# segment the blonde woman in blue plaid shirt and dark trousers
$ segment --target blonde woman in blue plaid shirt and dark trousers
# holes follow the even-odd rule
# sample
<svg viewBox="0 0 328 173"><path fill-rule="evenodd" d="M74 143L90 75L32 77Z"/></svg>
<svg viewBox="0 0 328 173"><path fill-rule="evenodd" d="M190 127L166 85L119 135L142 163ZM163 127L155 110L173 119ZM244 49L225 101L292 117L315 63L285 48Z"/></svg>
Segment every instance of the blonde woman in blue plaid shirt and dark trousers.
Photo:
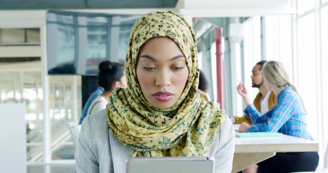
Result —
<svg viewBox="0 0 328 173"><path fill-rule="evenodd" d="M273 131L285 135L313 140L305 123L306 111L295 86L289 80L281 62L269 61L262 68L264 85L277 94L277 105L261 115L247 95L244 84L237 86L246 105L244 112L253 125L240 125L241 132ZM276 156L258 163L258 172L315 171L319 162L318 152L277 153Z"/></svg>

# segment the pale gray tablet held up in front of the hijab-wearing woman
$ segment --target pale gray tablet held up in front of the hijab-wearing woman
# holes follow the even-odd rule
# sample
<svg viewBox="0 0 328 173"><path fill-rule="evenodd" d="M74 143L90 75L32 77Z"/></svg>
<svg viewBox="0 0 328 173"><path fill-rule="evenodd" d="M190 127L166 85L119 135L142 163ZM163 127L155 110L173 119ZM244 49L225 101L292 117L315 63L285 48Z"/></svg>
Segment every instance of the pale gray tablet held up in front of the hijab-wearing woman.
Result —
<svg viewBox="0 0 328 173"><path fill-rule="evenodd" d="M213 157L151 157L126 160L126 173L213 173Z"/></svg>

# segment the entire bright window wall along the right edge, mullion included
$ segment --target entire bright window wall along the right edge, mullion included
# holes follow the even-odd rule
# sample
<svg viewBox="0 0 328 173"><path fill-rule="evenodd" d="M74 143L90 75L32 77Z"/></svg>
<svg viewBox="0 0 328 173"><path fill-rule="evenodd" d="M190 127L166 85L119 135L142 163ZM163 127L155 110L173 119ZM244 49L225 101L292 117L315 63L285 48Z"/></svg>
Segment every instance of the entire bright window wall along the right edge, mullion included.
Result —
<svg viewBox="0 0 328 173"><path fill-rule="evenodd" d="M297 16L297 66L298 89L307 111L306 123L313 138L320 143L319 167L328 142L327 110L328 92L328 7L327 0L321 0L320 6L314 4L320 0L298 0ZM326 6L326 7L325 7ZM321 19L321 21L317 20ZM319 32L321 30L321 32Z"/></svg>

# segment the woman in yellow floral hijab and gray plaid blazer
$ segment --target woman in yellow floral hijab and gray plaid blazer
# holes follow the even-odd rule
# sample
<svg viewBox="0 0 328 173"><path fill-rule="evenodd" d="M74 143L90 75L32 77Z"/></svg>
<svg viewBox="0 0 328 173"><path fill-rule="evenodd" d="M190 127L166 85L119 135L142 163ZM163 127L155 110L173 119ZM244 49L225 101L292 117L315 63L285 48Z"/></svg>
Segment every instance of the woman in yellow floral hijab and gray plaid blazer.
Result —
<svg viewBox="0 0 328 173"><path fill-rule="evenodd" d="M215 172L231 172L234 128L224 110L197 93L196 38L170 11L141 17L125 61L127 88L82 123L74 172L125 172L130 157L209 156Z"/></svg>

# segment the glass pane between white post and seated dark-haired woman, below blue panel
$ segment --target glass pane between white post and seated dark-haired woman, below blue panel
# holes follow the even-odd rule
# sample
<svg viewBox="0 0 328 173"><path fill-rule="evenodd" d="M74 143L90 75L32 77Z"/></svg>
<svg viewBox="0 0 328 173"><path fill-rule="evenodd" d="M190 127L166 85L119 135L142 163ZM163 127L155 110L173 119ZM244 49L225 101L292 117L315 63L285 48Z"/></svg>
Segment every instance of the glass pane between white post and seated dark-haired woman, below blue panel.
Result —
<svg viewBox="0 0 328 173"><path fill-rule="evenodd" d="M74 146L67 123L78 122L81 117L81 76L49 76L49 86L52 160L74 159Z"/></svg>

